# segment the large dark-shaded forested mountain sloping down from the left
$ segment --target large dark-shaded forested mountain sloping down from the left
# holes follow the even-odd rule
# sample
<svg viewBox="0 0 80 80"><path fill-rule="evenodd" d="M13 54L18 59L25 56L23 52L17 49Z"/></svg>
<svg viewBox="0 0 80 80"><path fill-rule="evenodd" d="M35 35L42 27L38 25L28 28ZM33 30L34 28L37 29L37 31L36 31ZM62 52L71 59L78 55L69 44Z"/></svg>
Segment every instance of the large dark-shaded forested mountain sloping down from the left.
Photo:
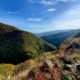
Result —
<svg viewBox="0 0 80 80"><path fill-rule="evenodd" d="M16 64L55 49L30 32L0 23L0 62Z"/></svg>

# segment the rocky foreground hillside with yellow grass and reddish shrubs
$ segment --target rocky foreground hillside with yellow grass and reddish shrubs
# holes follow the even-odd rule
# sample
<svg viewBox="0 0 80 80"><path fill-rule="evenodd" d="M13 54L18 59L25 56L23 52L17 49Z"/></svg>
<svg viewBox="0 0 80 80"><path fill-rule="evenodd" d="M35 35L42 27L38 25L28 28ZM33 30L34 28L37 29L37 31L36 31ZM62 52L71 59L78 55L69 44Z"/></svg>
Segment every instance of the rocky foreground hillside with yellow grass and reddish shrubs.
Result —
<svg viewBox="0 0 80 80"><path fill-rule="evenodd" d="M46 64L47 61L51 61L52 64ZM59 54L55 55L54 52L48 52L38 58L27 60L18 65L1 64L0 76L3 80L28 80L28 76L31 76L32 73L32 76L35 78L32 80L48 80L48 77L44 78L46 75L51 76L50 80L56 80L56 78L57 80L79 80L80 71L74 67L79 61L79 54L63 57ZM52 65L53 68L51 68ZM80 64L78 63L78 65ZM57 70L58 72L56 72Z"/></svg>

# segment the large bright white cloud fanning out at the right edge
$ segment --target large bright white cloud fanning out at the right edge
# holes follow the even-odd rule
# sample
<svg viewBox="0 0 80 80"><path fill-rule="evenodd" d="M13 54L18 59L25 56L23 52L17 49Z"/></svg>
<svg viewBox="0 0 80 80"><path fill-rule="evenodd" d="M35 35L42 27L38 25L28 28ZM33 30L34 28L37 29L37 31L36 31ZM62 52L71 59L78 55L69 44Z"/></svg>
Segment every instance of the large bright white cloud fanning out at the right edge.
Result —
<svg viewBox="0 0 80 80"><path fill-rule="evenodd" d="M80 28L80 6L73 7L49 24L57 29Z"/></svg>

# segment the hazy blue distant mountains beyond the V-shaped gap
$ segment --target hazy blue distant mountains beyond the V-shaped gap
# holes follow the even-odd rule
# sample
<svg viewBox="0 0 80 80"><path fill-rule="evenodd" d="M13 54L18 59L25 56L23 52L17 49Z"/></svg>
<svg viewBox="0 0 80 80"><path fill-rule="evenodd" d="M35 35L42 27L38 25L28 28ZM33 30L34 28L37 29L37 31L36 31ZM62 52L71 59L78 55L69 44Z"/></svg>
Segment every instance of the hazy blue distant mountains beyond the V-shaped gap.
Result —
<svg viewBox="0 0 80 80"><path fill-rule="evenodd" d="M80 29L79 30L77 30L77 29L76 30L67 30L67 31L59 32L59 33L53 34L53 35L41 36L41 38L44 39L45 41L47 41L48 43L55 45L57 48L59 48L60 44L64 40L66 40L68 38L72 38L73 36L76 36L76 34L78 32L80 32Z"/></svg>

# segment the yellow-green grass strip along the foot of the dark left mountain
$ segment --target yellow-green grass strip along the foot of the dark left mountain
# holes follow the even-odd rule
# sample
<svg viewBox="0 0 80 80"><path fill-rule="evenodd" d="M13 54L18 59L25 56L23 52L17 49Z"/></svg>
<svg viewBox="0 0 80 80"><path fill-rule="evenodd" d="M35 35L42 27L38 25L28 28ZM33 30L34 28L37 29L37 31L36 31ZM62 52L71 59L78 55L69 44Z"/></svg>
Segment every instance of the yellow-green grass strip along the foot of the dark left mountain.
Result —
<svg viewBox="0 0 80 80"><path fill-rule="evenodd" d="M21 77L26 76L30 70L40 66L44 60L51 59L52 57L54 57L52 52L47 52L37 58L26 60L21 64L17 64L17 65L4 64L4 63L0 64L0 79L4 78L3 80L5 80L5 78L8 77L9 75L12 75L12 77L14 78L20 77L21 79Z"/></svg>

